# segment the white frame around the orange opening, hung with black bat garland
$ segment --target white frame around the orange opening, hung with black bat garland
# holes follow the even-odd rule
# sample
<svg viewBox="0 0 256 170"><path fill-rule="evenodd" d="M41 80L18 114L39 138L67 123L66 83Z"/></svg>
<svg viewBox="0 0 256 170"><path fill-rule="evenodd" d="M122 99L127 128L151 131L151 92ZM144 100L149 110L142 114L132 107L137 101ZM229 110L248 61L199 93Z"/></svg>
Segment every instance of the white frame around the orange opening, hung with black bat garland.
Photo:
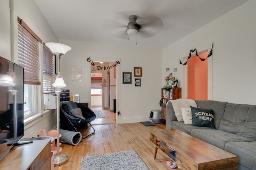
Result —
<svg viewBox="0 0 256 170"><path fill-rule="evenodd" d="M200 51L198 54L201 53L205 53L208 52L208 54L210 53L211 49L207 49L204 51ZM195 53L193 53L192 56L194 56ZM186 57L180 57L180 59L182 60L182 63L185 63L188 59L188 56ZM208 87L207 87L207 96L208 96L208 100L212 100L212 64L213 64L213 55L207 58L208 60ZM183 99L188 99L188 66L186 65L182 65L182 98Z"/></svg>

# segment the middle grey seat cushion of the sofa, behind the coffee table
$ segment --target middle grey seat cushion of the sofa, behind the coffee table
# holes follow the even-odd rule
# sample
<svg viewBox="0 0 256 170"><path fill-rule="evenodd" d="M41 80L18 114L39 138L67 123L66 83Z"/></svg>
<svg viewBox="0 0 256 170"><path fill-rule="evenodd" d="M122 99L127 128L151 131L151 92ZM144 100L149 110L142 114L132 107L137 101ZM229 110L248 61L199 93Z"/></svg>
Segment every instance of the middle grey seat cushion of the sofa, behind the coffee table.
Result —
<svg viewBox="0 0 256 170"><path fill-rule="evenodd" d="M228 142L250 142L254 141L240 135L216 130L216 129L193 129L191 135L202 141L210 143L220 149L224 149Z"/></svg>

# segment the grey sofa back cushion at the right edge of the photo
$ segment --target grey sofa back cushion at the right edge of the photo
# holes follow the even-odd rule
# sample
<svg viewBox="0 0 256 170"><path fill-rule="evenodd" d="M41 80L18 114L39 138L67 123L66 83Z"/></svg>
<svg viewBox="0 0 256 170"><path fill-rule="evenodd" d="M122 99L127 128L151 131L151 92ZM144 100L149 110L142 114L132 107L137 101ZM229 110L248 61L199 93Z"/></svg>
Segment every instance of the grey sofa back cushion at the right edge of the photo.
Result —
<svg viewBox="0 0 256 170"><path fill-rule="evenodd" d="M227 104L220 130L256 140L256 105Z"/></svg>

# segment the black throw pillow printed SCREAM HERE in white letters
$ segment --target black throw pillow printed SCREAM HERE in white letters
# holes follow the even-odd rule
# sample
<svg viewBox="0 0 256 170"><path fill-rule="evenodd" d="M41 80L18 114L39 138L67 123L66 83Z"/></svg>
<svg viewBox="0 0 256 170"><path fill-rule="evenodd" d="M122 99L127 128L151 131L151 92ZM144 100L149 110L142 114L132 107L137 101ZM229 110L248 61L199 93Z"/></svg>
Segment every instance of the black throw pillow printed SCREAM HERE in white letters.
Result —
<svg viewBox="0 0 256 170"><path fill-rule="evenodd" d="M192 107L192 126L210 127L214 129L214 115L212 109Z"/></svg>

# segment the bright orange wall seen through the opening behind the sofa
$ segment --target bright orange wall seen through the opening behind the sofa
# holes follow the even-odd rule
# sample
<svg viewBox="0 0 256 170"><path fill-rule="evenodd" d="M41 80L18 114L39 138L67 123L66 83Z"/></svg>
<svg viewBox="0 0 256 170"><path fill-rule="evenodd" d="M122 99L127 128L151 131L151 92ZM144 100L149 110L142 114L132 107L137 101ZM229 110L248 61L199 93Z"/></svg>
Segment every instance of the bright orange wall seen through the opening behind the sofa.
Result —
<svg viewBox="0 0 256 170"><path fill-rule="evenodd" d="M207 52L199 55L203 59L207 56ZM202 62L199 57L188 60L188 99L207 100L208 60Z"/></svg>

